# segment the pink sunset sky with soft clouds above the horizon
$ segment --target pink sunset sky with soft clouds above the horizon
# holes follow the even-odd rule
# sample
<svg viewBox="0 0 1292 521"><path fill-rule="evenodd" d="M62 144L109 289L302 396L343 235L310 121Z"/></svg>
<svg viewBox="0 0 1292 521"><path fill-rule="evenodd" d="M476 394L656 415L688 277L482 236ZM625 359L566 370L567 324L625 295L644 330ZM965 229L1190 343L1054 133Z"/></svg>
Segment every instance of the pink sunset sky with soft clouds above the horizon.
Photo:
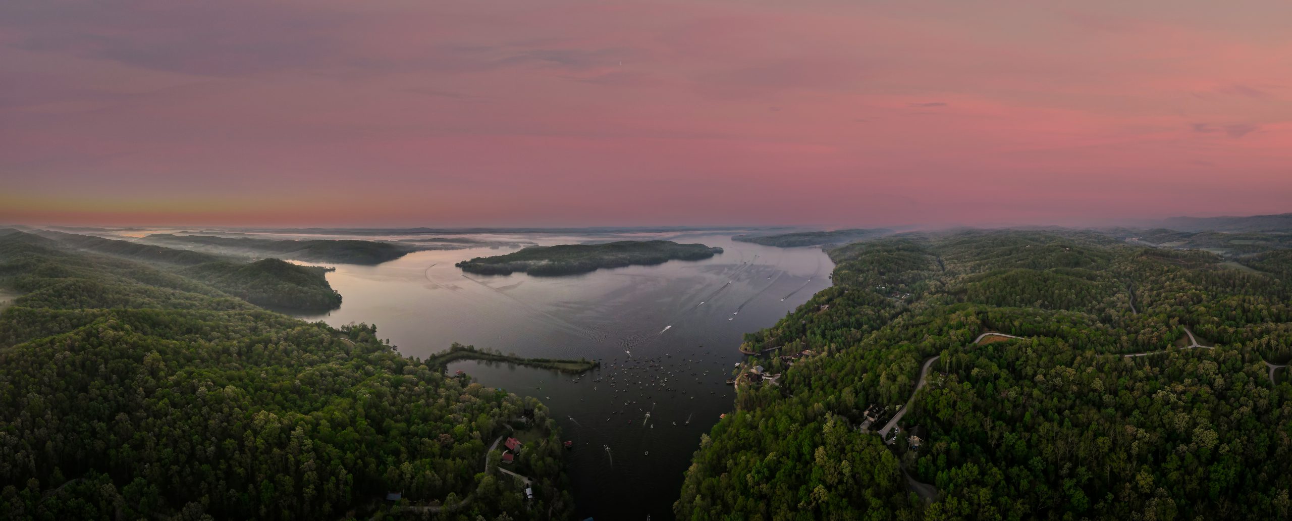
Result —
<svg viewBox="0 0 1292 521"><path fill-rule="evenodd" d="M1289 19L1286 0L12 1L0 222L1288 212Z"/></svg>

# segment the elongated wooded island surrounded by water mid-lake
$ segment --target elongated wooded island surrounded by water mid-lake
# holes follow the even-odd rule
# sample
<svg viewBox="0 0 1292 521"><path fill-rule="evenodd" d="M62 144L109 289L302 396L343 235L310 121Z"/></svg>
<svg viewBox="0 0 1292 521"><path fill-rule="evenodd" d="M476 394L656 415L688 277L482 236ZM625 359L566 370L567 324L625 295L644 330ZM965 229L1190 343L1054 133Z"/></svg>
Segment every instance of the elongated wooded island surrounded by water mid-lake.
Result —
<svg viewBox="0 0 1292 521"><path fill-rule="evenodd" d="M704 244L678 244L672 240L619 240L602 244L531 246L494 257L457 262L463 271L508 275L571 275L602 268L663 264L671 260L704 260L722 248Z"/></svg>

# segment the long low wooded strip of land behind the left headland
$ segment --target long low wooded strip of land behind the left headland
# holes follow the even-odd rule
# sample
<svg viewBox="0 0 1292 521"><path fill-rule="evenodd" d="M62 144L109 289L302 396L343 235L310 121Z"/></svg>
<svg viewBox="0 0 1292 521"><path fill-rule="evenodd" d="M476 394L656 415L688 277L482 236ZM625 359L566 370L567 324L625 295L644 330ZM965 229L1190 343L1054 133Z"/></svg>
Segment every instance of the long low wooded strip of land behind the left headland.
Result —
<svg viewBox="0 0 1292 521"><path fill-rule="evenodd" d="M425 246L355 239L258 239L249 237L150 234L142 239L174 248L235 256L275 256L307 262L381 264Z"/></svg>

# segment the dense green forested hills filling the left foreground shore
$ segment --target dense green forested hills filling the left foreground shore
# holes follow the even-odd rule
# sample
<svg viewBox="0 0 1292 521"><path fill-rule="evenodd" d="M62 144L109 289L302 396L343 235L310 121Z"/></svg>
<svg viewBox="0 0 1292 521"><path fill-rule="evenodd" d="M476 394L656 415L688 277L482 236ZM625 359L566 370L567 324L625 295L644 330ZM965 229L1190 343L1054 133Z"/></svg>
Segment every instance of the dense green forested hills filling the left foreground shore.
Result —
<svg viewBox="0 0 1292 521"><path fill-rule="evenodd" d="M536 399L402 357L375 326L258 308L204 282L233 275L193 252L67 239L115 253L0 230L0 288L18 295L0 312L0 517L572 512L561 438ZM264 269L260 291L289 288L266 286L292 277L284 266ZM512 436L525 443L509 468L530 484L496 472Z"/></svg>

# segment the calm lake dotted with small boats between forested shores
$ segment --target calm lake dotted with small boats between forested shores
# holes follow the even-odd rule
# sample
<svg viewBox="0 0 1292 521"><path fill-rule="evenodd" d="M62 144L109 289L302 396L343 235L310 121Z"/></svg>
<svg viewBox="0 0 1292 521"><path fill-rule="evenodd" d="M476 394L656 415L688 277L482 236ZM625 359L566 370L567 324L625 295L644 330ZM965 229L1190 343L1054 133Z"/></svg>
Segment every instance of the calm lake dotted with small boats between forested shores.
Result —
<svg viewBox="0 0 1292 521"><path fill-rule="evenodd" d="M525 357L602 359L583 377L474 361L448 370L543 399L575 443L568 462L578 518L668 520L700 434L731 410L725 380L742 359L742 335L771 326L828 287L833 265L817 248L764 247L733 242L730 234L597 239L621 238L725 251L703 261L572 277L475 275L453 266L514 248L335 265L328 281L344 297L341 308L305 318L376 323L377 336L416 357L457 341ZM505 239L559 244L589 237Z"/></svg>

